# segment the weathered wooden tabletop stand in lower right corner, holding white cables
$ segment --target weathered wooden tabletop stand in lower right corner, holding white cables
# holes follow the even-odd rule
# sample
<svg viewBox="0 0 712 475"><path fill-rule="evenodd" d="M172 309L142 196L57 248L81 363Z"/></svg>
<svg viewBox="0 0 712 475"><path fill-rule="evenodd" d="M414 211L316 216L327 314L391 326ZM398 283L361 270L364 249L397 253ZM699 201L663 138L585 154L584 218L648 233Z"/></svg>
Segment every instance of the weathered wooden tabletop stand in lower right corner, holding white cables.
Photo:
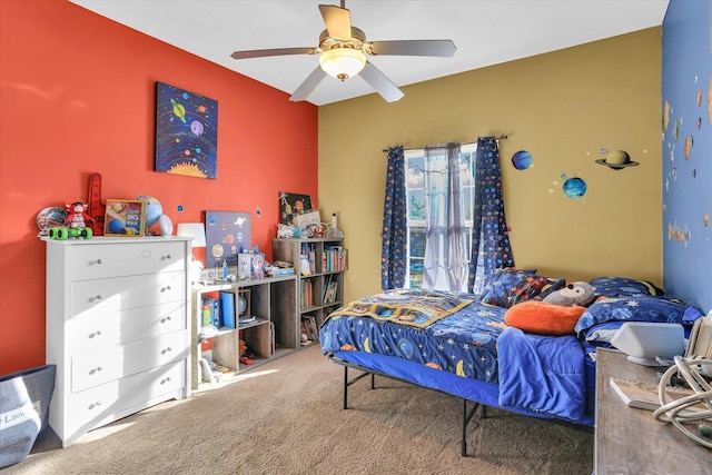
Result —
<svg viewBox="0 0 712 475"><path fill-rule="evenodd" d="M656 368L613 349L596 354L595 474L709 474L712 451L653 419L651 410L627 407L609 383L616 377L656 384Z"/></svg>

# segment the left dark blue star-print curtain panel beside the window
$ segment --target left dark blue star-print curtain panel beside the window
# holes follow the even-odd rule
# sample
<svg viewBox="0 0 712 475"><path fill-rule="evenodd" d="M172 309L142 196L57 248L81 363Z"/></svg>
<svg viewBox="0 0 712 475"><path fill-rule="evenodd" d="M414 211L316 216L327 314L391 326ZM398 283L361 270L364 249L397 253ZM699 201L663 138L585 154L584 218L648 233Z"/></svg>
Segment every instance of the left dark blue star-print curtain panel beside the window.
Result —
<svg viewBox="0 0 712 475"><path fill-rule="evenodd" d="M403 146L388 149L386 198L383 209L380 287L387 290L402 288L405 284L407 206Z"/></svg>

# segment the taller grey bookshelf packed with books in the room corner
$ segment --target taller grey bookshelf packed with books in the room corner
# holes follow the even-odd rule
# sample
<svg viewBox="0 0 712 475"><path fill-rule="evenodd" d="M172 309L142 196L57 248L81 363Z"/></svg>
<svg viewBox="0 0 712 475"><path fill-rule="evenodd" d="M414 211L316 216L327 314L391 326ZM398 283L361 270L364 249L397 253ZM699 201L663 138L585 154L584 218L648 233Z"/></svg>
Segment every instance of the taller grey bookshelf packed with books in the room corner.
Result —
<svg viewBox="0 0 712 475"><path fill-rule="evenodd" d="M306 333L303 346L318 340L318 328L324 319L344 301L344 271L346 249L344 239L275 239L273 255L276 260L291 263L296 275L297 315L299 335ZM309 275L301 273L301 265ZM304 323L304 325L303 325Z"/></svg>

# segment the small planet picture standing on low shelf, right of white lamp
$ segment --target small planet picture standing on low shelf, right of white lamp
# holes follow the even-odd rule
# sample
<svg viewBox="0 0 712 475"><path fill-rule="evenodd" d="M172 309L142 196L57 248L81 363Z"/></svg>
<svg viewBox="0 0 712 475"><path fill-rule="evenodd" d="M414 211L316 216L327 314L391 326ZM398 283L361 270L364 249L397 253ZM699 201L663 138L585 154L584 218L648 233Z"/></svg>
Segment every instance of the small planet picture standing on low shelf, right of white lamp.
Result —
<svg viewBox="0 0 712 475"><path fill-rule="evenodd" d="M250 215L241 211L205 211L205 265L237 266L237 255L250 249Z"/></svg>

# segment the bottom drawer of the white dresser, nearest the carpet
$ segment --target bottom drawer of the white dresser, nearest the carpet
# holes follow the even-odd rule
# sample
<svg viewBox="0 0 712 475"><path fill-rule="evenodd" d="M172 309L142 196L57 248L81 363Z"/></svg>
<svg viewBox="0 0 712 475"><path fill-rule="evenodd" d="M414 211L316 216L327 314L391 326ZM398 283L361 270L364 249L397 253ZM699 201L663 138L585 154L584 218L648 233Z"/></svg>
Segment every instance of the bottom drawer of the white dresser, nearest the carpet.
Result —
<svg viewBox="0 0 712 475"><path fill-rule="evenodd" d="M116 414L146 400L155 399L186 386L186 360L152 368L120 380L113 380L66 399L71 414L66 432L97 427L116 419Z"/></svg>

